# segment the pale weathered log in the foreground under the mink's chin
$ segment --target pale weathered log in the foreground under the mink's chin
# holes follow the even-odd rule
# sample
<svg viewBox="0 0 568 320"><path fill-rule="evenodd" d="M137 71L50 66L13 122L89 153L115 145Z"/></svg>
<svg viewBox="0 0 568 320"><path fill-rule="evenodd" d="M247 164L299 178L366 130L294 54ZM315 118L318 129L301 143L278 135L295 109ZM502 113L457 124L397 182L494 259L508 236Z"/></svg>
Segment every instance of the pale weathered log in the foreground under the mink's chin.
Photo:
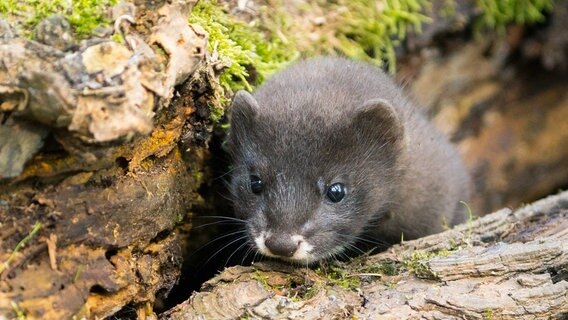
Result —
<svg viewBox="0 0 568 320"><path fill-rule="evenodd" d="M232 267L162 319L562 319L568 192L340 266Z"/></svg>

